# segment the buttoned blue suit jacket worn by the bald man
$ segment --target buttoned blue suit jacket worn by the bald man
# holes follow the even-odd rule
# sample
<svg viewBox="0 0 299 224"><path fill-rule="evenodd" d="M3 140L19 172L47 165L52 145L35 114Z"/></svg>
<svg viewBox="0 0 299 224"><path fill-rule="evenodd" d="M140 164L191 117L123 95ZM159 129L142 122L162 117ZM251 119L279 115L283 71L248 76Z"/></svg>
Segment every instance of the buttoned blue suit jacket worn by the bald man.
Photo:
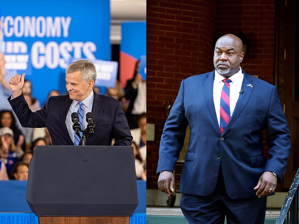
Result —
<svg viewBox="0 0 299 224"><path fill-rule="evenodd" d="M285 173L290 134L277 89L242 72L243 93L223 134L213 102L215 71L181 82L161 136L157 173L173 171L189 125L189 146L180 183L182 193L211 195L220 162L231 198L257 197L254 187L264 171L275 172L278 181ZM263 155L263 130L267 132L268 160Z"/></svg>

